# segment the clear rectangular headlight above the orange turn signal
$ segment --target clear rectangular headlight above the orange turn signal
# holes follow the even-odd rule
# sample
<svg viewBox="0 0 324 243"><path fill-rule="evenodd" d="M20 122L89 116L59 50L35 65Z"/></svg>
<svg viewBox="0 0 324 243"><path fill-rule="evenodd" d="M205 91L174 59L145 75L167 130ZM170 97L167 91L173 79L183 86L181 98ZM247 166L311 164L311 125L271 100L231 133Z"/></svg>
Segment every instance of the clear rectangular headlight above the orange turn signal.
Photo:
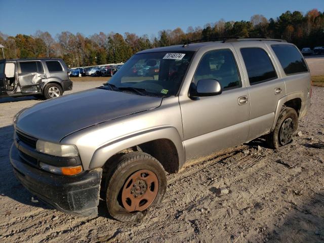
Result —
<svg viewBox="0 0 324 243"><path fill-rule="evenodd" d="M50 143L42 140L37 140L36 149L39 152L60 156L60 157L69 157L77 156L78 151L74 145L62 145L57 143Z"/></svg>

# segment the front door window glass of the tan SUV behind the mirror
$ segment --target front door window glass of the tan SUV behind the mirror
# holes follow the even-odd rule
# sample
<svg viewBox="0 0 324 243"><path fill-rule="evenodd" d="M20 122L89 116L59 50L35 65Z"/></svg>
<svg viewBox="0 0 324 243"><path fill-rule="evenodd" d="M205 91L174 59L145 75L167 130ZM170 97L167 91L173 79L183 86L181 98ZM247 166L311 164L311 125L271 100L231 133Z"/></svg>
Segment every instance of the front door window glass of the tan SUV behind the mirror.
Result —
<svg viewBox="0 0 324 243"><path fill-rule="evenodd" d="M241 87L232 52L226 49L206 53L199 62L193 83L196 85L200 79L216 79L223 90Z"/></svg>

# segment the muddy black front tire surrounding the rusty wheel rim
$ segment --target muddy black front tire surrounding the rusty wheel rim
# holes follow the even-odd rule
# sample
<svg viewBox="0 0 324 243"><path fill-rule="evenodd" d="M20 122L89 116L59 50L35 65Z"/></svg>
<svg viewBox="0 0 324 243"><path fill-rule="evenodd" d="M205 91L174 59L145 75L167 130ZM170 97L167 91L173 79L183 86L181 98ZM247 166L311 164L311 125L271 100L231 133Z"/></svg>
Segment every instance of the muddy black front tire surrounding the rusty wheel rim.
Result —
<svg viewBox="0 0 324 243"><path fill-rule="evenodd" d="M129 212L123 206L121 193L131 175L140 170L149 170L156 175L158 180L157 195L147 209ZM151 155L144 152L127 153L119 158L118 164L112 172L106 187L106 205L111 217L122 222L138 222L146 215L149 208L158 205L163 199L167 189L166 173L159 161Z"/></svg>

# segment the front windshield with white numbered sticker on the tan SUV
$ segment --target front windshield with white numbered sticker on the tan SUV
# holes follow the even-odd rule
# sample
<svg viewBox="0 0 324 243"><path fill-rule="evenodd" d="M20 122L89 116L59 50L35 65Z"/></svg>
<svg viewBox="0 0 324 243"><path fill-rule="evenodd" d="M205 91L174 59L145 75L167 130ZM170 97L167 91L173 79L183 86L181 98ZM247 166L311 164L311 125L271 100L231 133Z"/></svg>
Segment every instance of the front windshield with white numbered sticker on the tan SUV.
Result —
<svg viewBox="0 0 324 243"><path fill-rule="evenodd" d="M136 54L109 80L116 88L176 95L194 52Z"/></svg>

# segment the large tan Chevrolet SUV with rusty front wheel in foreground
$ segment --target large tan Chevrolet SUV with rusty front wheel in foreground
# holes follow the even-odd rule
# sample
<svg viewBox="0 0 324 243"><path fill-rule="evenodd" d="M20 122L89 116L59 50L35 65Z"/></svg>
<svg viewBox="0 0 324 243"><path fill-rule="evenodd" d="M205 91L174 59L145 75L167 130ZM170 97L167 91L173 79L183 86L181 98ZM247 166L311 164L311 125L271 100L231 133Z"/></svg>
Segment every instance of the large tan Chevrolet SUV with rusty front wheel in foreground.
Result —
<svg viewBox="0 0 324 243"><path fill-rule="evenodd" d="M301 53L281 40L145 50L102 87L20 111L10 161L58 210L94 215L101 197L112 217L137 221L187 161L262 135L289 145L310 96Z"/></svg>

